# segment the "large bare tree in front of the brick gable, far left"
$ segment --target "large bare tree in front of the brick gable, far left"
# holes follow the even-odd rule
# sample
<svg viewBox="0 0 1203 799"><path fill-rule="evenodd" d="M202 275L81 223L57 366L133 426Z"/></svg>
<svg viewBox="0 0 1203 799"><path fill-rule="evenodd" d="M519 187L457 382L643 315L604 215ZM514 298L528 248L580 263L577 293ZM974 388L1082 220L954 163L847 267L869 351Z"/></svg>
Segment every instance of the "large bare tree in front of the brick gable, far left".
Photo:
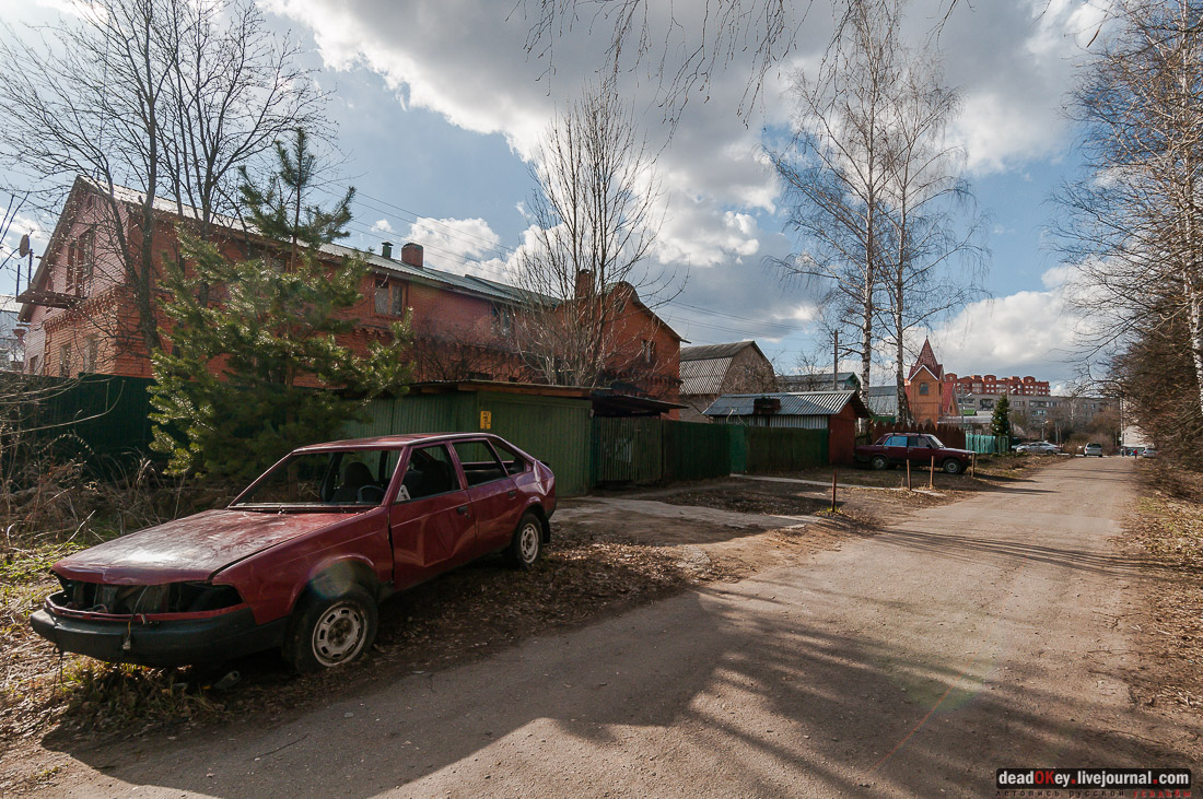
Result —
<svg viewBox="0 0 1203 799"><path fill-rule="evenodd" d="M96 252L120 264L137 314L117 335L154 351L155 197L197 207L207 226L230 197L233 168L312 121L319 97L294 66L295 47L277 44L248 0L113 0L78 11L75 22L0 41L10 111L0 157L46 186L43 210L76 177L93 183L109 220Z"/></svg>

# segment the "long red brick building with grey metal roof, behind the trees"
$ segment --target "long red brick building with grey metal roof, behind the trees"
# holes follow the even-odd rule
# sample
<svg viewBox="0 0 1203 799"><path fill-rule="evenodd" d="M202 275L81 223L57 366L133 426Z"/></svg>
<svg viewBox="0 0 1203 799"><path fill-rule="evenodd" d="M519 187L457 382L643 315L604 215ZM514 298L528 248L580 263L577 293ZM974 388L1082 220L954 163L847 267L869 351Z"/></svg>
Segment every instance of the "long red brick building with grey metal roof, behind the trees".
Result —
<svg viewBox="0 0 1203 799"><path fill-rule="evenodd" d="M118 189L117 217L112 204L90 180L76 179L51 234L46 252L28 287L18 297L18 321L24 345L24 370L30 374L76 375L103 372L150 376L150 360L137 326L136 296L126 274L120 245L135 251L144 237L135 208L137 192ZM156 198L153 251L160 254L150 275L158 288L158 264L179 257L177 225L189 225L174 202ZM115 231L122 233L118 235ZM231 258L259 257L268 242L233 220L219 220L211 240ZM321 248L318 257L331 269L352 255L369 267L362 299L348 316L355 329L340 344L366 352L372 341L391 336L390 326L410 317L415 381L531 381L531 368L511 344L515 314L529 294L514 286L432 268L417 244L405 244L399 258L385 243L379 255L338 244ZM606 364L606 377L632 390L675 401L680 386L681 336L640 300L626 284L608 290L615 305L617 345ZM170 342L170 322L155 311L160 334Z"/></svg>

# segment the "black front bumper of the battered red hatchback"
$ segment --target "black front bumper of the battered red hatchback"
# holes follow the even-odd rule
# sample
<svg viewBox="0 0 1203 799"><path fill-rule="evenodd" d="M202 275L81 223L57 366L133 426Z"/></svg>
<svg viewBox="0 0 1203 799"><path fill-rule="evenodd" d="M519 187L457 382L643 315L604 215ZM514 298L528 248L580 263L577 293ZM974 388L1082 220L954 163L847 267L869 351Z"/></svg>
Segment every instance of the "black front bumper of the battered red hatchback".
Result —
<svg viewBox="0 0 1203 799"><path fill-rule="evenodd" d="M67 652L109 663L170 667L217 664L279 646L288 619L255 624L250 608L200 619L155 621L135 616L128 621L76 619L37 610L29 624L43 638Z"/></svg>

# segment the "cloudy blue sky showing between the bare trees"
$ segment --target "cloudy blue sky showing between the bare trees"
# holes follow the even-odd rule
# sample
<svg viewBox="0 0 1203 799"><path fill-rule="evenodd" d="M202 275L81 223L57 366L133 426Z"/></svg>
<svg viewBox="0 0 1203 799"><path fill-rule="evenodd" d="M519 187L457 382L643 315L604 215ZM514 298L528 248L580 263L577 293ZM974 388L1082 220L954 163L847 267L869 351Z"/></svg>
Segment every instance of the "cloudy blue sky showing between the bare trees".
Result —
<svg viewBox="0 0 1203 799"><path fill-rule="evenodd" d="M10 23L36 22L66 5L0 0L0 14ZM529 223L522 202L532 189L527 160L538 135L602 62L605 41L589 35L592 20L565 31L549 82L545 60L528 58L522 47L526 23L521 13L510 14L511 2L267 0L262 6L274 26L291 29L312 47L319 82L333 90L330 113L339 120L342 168L361 198L349 243L379 249L385 239L416 240L432 266L503 276ZM967 177L990 216L990 298L934 324L932 342L952 371L1065 382L1081 322L1061 302L1063 270L1043 231L1055 213L1049 196L1078 167L1062 107L1101 13L1075 0L959 2L932 42L934 19L946 6L947 0L912 2L907 37L938 54L964 97L954 127ZM650 8L653 26L663 24L668 5ZM680 48L699 20L691 10L674 13L685 31L671 40ZM671 138L656 107L654 76L639 67L623 79L651 145L663 147L665 225L652 266L689 275L662 315L697 344L754 338L786 371L799 353L828 348L814 339L807 292L783 284L766 266L787 255L792 242L783 234L760 131L787 123L788 76L813 62L831 13L816 2L798 22L796 48L768 76L764 102L745 118L736 108L749 65L739 56L716 74L705 102L691 100ZM604 20L595 29L604 30ZM919 344L921 338L915 348ZM885 364L877 369L883 377L889 371Z"/></svg>

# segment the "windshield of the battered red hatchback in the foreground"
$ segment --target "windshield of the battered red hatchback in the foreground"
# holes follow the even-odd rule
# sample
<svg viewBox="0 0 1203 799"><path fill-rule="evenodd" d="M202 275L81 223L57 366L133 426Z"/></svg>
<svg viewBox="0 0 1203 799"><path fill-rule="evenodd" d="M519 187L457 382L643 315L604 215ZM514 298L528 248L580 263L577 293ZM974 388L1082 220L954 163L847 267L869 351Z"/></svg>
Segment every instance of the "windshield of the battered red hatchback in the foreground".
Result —
<svg viewBox="0 0 1203 799"><path fill-rule="evenodd" d="M399 449L326 449L294 454L239 496L235 507L380 505L399 453Z"/></svg>

